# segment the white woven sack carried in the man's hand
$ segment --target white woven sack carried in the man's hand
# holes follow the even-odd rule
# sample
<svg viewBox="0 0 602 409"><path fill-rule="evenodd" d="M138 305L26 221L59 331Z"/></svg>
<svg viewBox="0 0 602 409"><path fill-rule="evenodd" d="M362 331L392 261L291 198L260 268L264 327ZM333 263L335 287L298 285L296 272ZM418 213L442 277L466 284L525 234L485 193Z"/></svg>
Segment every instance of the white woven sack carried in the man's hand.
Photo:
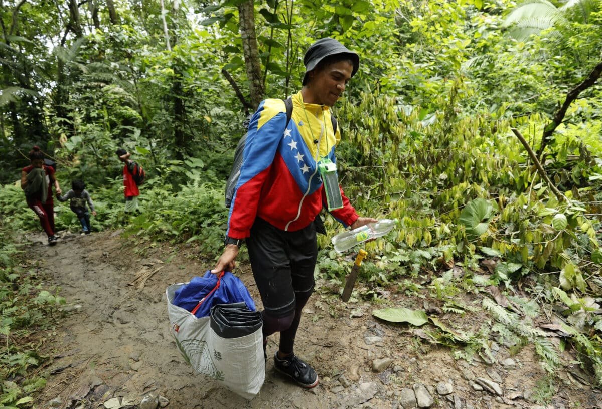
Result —
<svg viewBox="0 0 602 409"><path fill-rule="evenodd" d="M244 337L218 336L210 318L196 318L172 304L176 290L188 283L167 287L167 313L173 337L184 360L199 374L207 375L242 396L253 399L265 381L261 328Z"/></svg>

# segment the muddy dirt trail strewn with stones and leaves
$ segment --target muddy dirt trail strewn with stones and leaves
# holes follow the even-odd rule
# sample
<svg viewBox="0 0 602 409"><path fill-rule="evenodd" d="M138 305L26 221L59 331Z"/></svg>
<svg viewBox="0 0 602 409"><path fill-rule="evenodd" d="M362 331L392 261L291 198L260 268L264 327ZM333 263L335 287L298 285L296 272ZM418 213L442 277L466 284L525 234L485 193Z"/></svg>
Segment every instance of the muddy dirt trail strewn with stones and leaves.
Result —
<svg viewBox="0 0 602 409"><path fill-rule="evenodd" d="M380 306L347 306L332 294L336 288L329 291L333 284L323 282L304 310L296 343L297 354L320 375L320 386L303 390L283 380L268 359L261 393L246 401L194 374L170 334L166 286L202 275L211 266L193 248L149 244L134 251L117 232L66 233L55 247L43 244L40 236L30 239L30 257L42 259L50 283L61 287L72 309L48 345L54 357L48 367L52 375L36 408L97 408L111 398L119 398L122 408L138 408L144 395L155 393L176 409L389 409L410 407L403 406L408 398L403 389L417 383L427 387L433 408L535 407L525 392L533 392L544 373L529 347L512 357L516 369L456 361L450 349L418 342L414 328L376 322L371 311ZM248 266L236 273L261 307ZM422 304L402 294L390 298L400 307ZM368 345L367 337L376 342ZM272 338L268 355L276 349ZM507 357L505 349L497 352L498 362ZM374 360L383 358L393 363L384 372L374 372ZM497 382L502 396L474 390L475 377ZM569 408L575 402L582 408L602 407L598 391L574 377L570 381L571 386L558 386L550 407ZM450 384L453 393L436 392L439 383Z"/></svg>

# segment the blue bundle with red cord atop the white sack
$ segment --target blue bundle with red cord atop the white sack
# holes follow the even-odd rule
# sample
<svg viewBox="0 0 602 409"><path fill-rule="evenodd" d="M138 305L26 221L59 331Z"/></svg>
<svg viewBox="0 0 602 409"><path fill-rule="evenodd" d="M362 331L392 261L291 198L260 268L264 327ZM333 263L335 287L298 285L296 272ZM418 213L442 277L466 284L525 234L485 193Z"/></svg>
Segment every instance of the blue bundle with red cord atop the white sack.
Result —
<svg viewBox="0 0 602 409"><path fill-rule="evenodd" d="M250 311L256 310L243 281L229 271L220 274L207 271L203 277L194 277L175 292L172 301L173 305L192 312L197 318L209 316L211 307L217 304L232 303L245 303Z"/></svg>

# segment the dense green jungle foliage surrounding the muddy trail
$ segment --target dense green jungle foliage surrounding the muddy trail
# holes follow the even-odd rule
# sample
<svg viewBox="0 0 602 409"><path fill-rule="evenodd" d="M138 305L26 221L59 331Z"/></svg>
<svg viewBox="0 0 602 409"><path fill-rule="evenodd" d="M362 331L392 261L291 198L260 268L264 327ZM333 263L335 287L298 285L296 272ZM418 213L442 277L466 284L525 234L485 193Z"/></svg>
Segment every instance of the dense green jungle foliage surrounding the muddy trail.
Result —
<svg viewBox="0 0 602 409"><path fill-rule="evenodd" d="M262 98L299 90L303 52L334 37L361 58L334 108L341 184L360 214L399 220L365 245L364 279L408 291L412 278L436 271L433 294L458 314L467 308L458 292L522 288L554 306L568 345L602 385L601 0L3 0L0 23L6 232L39 229L17 183L34 144L57 161L65 191L85 180L96 229L123 226L115 151L125 147L147 174L143 214L127 220L126 234L216 256L244 118ZM68 206L55 210L59 229L77 228ZM342 227L325 220L319 274L340 279L350 263L330 237ZM0 251L7 344L34 325L8 301L19 291L14 251ZM529 314L482 307L487 334L536 342L550 376L563 364ZM467 358L487 355L484 337L438 342ZM25 364L11 365L2 375ZM3 388L4 404L28 404L31 391Z"/></svg>

